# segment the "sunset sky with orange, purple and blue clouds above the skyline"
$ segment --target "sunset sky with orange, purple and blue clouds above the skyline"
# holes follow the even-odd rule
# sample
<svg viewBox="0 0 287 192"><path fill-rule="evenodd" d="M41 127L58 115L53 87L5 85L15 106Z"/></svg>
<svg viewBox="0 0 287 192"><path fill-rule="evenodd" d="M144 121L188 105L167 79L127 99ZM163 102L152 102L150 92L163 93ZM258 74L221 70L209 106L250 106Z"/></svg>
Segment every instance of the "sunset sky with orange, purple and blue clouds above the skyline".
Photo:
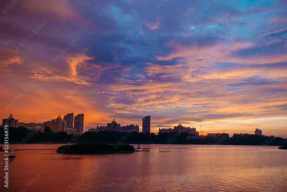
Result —
<svg viewBox="0 0 287 192"><path fill-rule="evenodd" d="M203 135L287 137L285 0L9 4L0 3L1 119L73 112L84 131L113 119L141 131L150 115L154 133L181 122L201 123Z"/></svg>

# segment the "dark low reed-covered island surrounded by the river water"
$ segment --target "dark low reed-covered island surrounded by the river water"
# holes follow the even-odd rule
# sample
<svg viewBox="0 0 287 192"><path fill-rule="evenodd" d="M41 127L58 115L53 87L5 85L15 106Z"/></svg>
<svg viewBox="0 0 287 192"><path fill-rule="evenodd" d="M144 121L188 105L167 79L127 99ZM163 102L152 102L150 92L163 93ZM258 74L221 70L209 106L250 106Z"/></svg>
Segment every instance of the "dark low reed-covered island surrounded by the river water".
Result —
<svg viewBox="0 0 287 192"><path fill-rule="evenodd" d="M116 146L116 147L115 147ZM57 149L58 153L65 154L96 154L96 153L117 153L134 152L133 145L122 144L99 144L99 143L77 143L74 145L63 145Z"/></svg>

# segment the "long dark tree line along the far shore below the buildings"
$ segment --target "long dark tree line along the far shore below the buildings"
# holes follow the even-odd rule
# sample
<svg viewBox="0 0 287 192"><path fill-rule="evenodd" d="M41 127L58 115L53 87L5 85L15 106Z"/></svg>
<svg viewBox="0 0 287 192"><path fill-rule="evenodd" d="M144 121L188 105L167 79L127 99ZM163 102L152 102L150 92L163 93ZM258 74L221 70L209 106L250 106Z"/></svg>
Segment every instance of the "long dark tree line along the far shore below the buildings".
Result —
<svg viewBox="0 0 287 192"><path fill-rule="evenodd" d="M187 132L175 133L137 133L99 131L85 132L82 135L67 134L67 132L54 133L50 127L44 128L44 133L28 130L25 127L9 127L9 143L43 143L43 142L92 142L92 143L134 143L134 144L216 144L216 145L287 145L281 137L261 136L252 134L216 134L216 136L205 136L204 138L187 139L187 136L195 136ZM0 138L4 138L4 128L0 128ZM4 143L4 139L1 139Z"/></svg>

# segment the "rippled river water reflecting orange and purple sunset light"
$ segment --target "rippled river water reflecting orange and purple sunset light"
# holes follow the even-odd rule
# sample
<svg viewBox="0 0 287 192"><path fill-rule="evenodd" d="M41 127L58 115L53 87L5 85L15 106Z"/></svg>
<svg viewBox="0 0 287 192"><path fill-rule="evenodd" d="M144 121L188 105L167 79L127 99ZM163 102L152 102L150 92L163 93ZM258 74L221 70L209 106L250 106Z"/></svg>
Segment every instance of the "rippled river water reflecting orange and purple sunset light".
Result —
<svg viewBox="0 0 287 192"><path fill-rule="evenodd" d="M134 153L66 155L55 152L61 145L14 145L37 150L15 151L8 190L0 161L0 191L287 191L287 150L276 146L151 144Z"/></svg>

